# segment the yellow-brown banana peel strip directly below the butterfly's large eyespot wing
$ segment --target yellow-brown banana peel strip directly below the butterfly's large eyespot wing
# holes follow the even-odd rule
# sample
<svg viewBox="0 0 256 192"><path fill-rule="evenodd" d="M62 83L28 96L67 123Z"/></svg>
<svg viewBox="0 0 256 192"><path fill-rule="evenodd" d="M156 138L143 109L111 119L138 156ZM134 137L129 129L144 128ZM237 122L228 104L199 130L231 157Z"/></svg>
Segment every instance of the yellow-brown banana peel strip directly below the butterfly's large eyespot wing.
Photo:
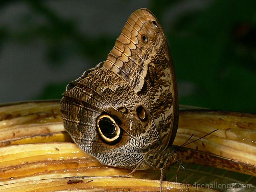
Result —
<svg viewBox="0 0 256 192"><path fill-rule="evenodd" d="M104 166L71 142L46 142L1 147L0 186L24 180L71 176L120 176L131 171ZM155 176L154 176L155 175ZM160 178L156 170L138 171L135 177ZM11 178L11 179L10 179Z"/></svg>

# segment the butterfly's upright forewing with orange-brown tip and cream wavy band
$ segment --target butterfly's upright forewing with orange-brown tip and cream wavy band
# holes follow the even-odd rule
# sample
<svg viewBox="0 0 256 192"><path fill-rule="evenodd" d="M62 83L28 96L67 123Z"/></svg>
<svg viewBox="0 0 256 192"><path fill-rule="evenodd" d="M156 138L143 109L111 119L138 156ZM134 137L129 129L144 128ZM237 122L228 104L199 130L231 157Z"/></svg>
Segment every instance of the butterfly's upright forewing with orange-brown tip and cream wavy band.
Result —
<svg viewBox="0 0 256 192"><path fill-rule="evenodd" d="M128 18L103 66L118 73L145 102L162 149L172 145L178 127L178 91L168 43L160 23L147 9ZM156 128L156 130L155 130Z"/></svg>

